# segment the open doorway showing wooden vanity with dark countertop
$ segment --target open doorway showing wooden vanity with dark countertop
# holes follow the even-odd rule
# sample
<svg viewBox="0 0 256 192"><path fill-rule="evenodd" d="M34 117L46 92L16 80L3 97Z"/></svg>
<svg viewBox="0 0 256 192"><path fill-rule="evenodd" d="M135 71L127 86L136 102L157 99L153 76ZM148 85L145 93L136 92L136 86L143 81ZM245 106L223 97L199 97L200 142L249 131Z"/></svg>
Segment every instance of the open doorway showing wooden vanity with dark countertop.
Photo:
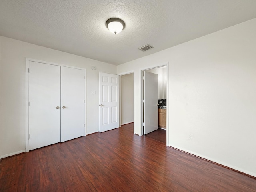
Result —
<svg viewBox="0 0 256 192"><path fill-rule="evenodd" d="M142 134L168 145L168 66L142 70Z"/></svg>

